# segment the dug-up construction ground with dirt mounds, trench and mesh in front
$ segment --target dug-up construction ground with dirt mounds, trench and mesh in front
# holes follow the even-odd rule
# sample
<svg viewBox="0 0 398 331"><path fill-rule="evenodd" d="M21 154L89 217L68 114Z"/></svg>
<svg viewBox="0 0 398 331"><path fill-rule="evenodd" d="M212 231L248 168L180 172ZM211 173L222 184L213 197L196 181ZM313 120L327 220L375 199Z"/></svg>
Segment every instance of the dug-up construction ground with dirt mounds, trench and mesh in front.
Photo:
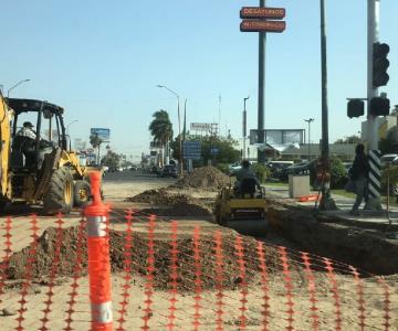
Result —
<svg viewBox="0 0 398 331"><path fill-rule="evenodd" d="M397 330L398 239L387 236L397 224L344 222L266 192L266 231L248 236L214 221L230 181L212 167L104 178L115 330ZM8 213L2 330L88 330L82 210Z"/></svg>

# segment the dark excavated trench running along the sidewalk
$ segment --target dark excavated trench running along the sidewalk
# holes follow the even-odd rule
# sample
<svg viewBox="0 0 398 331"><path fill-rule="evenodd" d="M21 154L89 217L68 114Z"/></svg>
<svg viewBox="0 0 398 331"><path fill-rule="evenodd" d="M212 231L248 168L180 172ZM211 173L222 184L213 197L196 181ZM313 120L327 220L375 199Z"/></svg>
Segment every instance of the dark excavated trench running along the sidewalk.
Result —
<svg viewBox="0 0 398 331"><path fill-rule="evenodd" d="M269 200L270 235L295 249L329 257L375 275L398 274L398 225L347 221L311 209ZM266 241L266 238L264 238Z"/></svg>

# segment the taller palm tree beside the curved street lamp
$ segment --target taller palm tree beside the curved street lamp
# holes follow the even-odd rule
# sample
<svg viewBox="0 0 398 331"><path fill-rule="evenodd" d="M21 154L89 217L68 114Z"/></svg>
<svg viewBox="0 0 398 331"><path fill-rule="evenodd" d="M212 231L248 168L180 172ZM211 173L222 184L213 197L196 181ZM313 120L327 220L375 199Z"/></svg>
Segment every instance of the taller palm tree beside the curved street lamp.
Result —
<svg viewBox="0 0 398 331"><path fill-rule="evenodd" d="M168 116L168 113L164 109L155 111L153 114L153 121L149 125L150 135L154 137L154 141L161 146L161 149L165 150L168 147L168 142L172 139L172 124ZM165 157L167 153L164 154L163 163L165 163ZM168 154L167 154L168 156Z"/></svg>

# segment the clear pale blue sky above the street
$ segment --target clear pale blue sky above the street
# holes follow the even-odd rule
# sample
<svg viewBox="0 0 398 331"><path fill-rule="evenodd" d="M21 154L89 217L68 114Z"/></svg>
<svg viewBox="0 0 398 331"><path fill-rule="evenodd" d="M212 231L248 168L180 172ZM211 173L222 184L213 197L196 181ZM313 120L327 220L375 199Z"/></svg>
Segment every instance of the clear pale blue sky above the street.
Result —
<svg viewBox="0 0 398 331"><path fill-rule="evenodd" d="M13 0L1 1L0 85L11 97L45 99L65 108L73 138L109 128L109 146L138 159L148 152L151 115L170 114L177 98L187 124L218 122L221 134L256 128L258 33L240 32L239 11L253 0ZM321 130L318 0L268 0L286 9L286 30L268 33L265 129ZM398 104L397 0L380 1L380 42L390 45L390 81L380 88ZM347 97L366 97L367 1L326 0L329 141L357 135L365 117L346 116ZM219 104L219 96L221 103ZM220 114L219 114L220 109Z"/></svg>

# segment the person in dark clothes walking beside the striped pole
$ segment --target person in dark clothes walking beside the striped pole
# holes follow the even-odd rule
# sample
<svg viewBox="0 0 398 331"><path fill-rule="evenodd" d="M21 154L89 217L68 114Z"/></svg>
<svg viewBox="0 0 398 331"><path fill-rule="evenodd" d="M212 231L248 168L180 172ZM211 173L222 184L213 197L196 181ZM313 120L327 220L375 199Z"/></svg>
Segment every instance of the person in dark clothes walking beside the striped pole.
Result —
<svg viewBox="0 0 398 331"><path fill-rule="evenodd" d="M365 153L363 143L358 143L355 148L355 160L350 169L350 180L355 183L355 203L350 210L350 214L358 214L358 207L362 201L367 201L367 185L369 177L369 162Z"/></svg>

